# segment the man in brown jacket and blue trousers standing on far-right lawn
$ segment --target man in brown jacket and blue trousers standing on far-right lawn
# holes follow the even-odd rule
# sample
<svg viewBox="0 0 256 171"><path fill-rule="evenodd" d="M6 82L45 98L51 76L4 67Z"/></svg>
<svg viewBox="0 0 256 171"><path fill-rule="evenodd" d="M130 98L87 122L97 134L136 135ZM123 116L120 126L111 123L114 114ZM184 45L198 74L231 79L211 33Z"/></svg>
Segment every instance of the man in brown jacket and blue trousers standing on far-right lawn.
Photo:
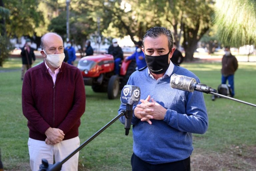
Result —
<svg viewBox="0 0 256 171"><path fill-rule="evenodd" d="M225 47L224 52L225 55L222 57L221 84L226 84L228 80L228 84L230 85L231 89L231 97L234 97L234 74L238 68L238 62L236 57L231 54L229 46Z"/></svg>

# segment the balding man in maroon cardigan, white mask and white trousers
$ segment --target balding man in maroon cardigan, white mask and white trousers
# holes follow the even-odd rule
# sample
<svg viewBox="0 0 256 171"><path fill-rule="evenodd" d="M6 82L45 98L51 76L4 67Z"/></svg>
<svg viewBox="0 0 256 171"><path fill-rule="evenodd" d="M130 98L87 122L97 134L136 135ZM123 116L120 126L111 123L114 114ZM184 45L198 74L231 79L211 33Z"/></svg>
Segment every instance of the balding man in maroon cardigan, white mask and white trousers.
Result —
<svg viewBox="0 0 256 171"><path fill-rule="evenodd" d="M22 87L32 171L39 170L42 158L50 164L60 162L79 147L78 127L85 111L82 74L77 67L63 62L62 38L46 33L41 47L44 62L26 72ZM77 171L78 155L66 161L62 171Z"/></svg>

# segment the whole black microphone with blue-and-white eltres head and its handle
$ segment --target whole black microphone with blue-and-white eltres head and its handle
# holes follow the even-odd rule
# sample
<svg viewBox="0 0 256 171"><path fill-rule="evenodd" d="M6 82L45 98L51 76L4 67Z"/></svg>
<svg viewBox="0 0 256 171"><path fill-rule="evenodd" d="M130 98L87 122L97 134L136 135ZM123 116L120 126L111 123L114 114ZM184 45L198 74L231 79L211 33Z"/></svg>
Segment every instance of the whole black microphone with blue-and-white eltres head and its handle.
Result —
<svg viewBox="0 0 256 171"><path fill-rule="evenodd" d="M122 89L120 100L122 104L126 105L124 129L125 135L128 135L129 130L131 129L133 105L137 104L140 100L140 88L137 86L125 85Z"/></svg>

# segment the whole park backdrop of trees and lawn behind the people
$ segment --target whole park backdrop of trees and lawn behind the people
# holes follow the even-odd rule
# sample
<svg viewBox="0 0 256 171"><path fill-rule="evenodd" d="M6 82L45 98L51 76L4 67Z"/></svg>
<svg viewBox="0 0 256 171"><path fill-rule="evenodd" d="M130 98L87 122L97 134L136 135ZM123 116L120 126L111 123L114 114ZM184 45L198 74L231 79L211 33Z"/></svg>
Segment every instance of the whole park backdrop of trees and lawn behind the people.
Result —
<svg viewBox="0 0 256 171"><path fill-rule="evenodd" d="M215 89L220 84L223 47L231 46L239 61L235 98L255 104L255 6L254 0L0 0L0 148L4 169L29 170L19 58L26 38L40 49L41 36L57 32L64 44L69 39L77 47L78 60L86 40L94 43L95 53L109 46L112 38L128 38L129 43L123 41L122 47L133 48L147 29L164 26L185 56L181 66ZM37 57L35 64L42 60L40 54ZM114 118L120 105L120 99L108 100L105 93L94 93L89 86L85 89L81 143ZM212 101L209 94L204 97L209 129L204 135L193 134L192 170L255 171L255 108L223 98ZM117 121L80 151L79 171L128 171L131 154L132 132L125 136Z"/></svg>

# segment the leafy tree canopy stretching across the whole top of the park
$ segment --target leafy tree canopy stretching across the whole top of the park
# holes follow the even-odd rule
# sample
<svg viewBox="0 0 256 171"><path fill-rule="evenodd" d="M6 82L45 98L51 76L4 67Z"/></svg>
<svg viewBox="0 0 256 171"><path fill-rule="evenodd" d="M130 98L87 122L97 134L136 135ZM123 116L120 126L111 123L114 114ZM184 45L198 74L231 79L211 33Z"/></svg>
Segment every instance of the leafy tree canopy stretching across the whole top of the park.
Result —
<svg viewBox="0 0 256 171"><path fill-rule="evenodd" d="M4 5L1 16L9 15L0 28L8 37L33 36L37 44L48 31L67 37L65 0L9 0ZM213 26L222 44L255 44L255 10L255 0L71 0L70 39L83 47L92 37L99 43L129 35L135 43L149 28L163 26L191 61L198 42Z"/></svg>

